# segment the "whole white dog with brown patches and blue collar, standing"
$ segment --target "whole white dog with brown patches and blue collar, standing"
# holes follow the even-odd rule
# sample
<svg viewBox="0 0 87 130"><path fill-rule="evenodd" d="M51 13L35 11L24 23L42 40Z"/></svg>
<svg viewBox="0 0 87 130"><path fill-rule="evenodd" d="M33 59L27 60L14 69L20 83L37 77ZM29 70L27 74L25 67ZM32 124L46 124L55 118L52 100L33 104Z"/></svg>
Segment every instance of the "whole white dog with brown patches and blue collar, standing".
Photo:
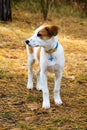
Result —
<svg viewBox="0 0 87 130"><path fill-rule="evenodd" d="M52 25L40 26L32 37L26 40L28 53L28 83L27 88L33 89L32 65L39 62L37 74L37 89L43 92L43 108L50 108L47 71L55 74L54 101L62 104L60 97L60 82L64 68L64 50L57 38L58 27Z"/></svg>

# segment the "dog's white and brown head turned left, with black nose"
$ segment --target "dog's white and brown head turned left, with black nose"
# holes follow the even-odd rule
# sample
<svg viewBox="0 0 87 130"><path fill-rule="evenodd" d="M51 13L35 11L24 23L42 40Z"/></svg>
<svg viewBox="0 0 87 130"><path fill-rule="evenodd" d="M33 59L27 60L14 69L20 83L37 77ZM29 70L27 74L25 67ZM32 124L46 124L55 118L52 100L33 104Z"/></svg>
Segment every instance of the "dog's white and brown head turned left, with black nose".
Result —
<svg viewBox="0 0 87 130"><path fill-rule="evenodd" d="M26 44L31 47L42 46L45 47L50 40L58 33L58 27L54 25L40 26L35 30L32 37L26 40Z"/></svg>

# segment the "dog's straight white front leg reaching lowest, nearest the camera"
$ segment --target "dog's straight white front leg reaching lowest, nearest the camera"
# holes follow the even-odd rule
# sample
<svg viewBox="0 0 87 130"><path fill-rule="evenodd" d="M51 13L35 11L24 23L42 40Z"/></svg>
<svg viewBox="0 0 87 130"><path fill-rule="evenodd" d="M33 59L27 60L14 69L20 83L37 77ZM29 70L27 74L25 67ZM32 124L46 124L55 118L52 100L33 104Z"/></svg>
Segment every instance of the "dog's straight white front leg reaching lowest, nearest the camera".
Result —
<svg viewBox="0 0 87 130"><path fill-rule="evenodd" d="M50 108L49 90L47 86L47 73L43 70L40 72L41 88L43 92L43 108Z"/></svg>

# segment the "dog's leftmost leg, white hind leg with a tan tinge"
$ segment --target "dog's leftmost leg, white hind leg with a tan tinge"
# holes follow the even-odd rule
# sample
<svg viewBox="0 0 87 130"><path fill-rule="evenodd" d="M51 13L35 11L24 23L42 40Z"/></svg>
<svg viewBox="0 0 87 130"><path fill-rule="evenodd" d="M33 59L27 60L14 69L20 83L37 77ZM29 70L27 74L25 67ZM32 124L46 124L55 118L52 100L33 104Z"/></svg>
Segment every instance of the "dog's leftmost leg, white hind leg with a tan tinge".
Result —
<svg viewBox="0 0 87 130"><path fill-rule="evenodd" d="M27 89L33 89L33 63L34 60L32 57L28 59L28 83L27 83Z"/></svg>

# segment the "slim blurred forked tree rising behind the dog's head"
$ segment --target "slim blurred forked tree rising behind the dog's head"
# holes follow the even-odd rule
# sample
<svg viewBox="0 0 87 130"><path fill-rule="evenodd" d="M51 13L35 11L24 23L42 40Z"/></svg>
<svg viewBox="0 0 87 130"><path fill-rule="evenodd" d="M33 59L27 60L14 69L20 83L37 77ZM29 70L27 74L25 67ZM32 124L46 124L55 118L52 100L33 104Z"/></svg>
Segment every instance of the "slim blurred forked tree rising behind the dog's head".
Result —
<svg viewBox="0 0 87 130"><path fill-rule="evenodd" d="M44 17L44 20L46 20L49 9L52 3L54 2L54 0L40 0L40 2L41 2L43 17Z"/></svg>

